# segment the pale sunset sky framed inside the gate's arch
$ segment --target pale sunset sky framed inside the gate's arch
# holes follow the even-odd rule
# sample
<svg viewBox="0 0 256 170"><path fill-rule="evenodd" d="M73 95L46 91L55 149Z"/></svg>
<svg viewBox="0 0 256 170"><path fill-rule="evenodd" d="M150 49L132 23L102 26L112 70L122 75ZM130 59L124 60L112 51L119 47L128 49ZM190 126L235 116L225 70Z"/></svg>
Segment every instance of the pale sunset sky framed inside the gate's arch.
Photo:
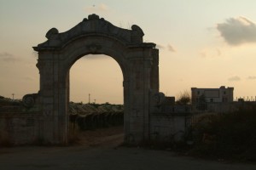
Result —
<svg viewBox="0 0 256 170"><path fill-rule="evenodd" d="M69 74L70 102L124 105L123 72L111 56L85 55Z"/></svg>

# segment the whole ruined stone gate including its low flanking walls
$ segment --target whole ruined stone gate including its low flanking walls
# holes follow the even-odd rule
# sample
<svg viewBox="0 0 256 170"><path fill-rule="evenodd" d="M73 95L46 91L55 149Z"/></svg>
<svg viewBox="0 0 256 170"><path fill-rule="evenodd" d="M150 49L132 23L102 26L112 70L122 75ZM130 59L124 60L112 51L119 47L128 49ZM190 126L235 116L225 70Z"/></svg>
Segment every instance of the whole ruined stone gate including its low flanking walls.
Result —
<svg viewBox="0 0 256 170"><path fill-rule="evenodd" d="M48 40L34 47L40 74L38 94L23 97L22 111L10 114L0 108L0 145L4 141L68 143L69 123L74 123L68 120L69 71L87 54L106 54L121 68L125 143L182 139L189 113L171 111L166 106L166 97L159 92L159 50L154 43L143 42L143 35L139 26L119 28L96 14L66 32L50 29Z"/></svg>

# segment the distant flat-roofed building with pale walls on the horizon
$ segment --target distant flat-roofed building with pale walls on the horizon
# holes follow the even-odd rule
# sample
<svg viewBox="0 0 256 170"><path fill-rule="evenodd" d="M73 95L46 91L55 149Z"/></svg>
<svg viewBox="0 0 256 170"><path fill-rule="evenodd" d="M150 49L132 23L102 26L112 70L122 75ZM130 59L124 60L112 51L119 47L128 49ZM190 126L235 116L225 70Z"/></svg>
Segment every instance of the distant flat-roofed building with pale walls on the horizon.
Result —
<svg viewBox="0 0 256 170"><path fill-rule="evenodd" d="M191 88L192 105L233 101L234 88Z"/></svg>

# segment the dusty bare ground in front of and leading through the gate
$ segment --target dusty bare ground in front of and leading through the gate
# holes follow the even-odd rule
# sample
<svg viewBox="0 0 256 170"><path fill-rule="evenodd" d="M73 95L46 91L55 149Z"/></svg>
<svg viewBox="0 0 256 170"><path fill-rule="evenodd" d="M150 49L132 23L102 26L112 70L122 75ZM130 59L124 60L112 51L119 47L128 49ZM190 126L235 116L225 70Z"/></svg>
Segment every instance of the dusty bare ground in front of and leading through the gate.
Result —
<svg viewBox="0 0 256 170"><path fill-rule="evenodd" d="M163 150L119 146L121 127L88 131L68 147L0 148L0 169L256 170L256 165L205 161Z"/></svg>

